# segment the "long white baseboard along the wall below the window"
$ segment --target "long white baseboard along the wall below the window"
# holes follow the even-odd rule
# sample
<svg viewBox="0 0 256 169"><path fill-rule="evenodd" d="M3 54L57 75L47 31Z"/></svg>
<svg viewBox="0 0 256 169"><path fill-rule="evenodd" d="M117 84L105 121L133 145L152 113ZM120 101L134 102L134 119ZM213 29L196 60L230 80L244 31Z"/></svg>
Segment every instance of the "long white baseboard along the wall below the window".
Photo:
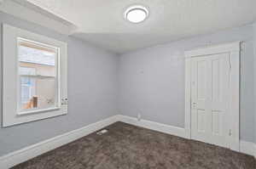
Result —
<svg viewBox="0 0 256 169"><path fill-rule="evenodd" d="M96 132L97 130L100 130L102 127L107 127L108 125L118 121L117 116L118 115L114 115L105 120L90 124L86 127L82 127L77 130L61 134L55 138L49 138L38 144L33 144L24 149L20 149L15 152L9 153L8 155L3 155L0 157L0 168L8 169L9 167L15 166L17 164L20 164L21 162L32 159L33 157L42 155L48 152L49 150L56 149L61 145L68 144L76 139L82 138L90 134L91 132Z"/></svg>

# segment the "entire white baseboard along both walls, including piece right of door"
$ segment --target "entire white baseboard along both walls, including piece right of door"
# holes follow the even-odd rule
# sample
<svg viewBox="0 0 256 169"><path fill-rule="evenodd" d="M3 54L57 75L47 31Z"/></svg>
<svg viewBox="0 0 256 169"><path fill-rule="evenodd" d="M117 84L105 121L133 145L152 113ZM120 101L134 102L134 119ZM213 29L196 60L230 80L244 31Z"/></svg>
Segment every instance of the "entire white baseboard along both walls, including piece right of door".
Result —
<svg viewBox="0 0 256 169"><path fill-rule="evenodd" d="M64 133L55 138L49 138L38 144L33 144L24 149L17 150L15 152L9 153L8 155L3 155L0 157L0 168L8 169L9 167L20 164L21 162L28 161L33 157L42 155L49 150L56 149L61 145L73 142L76 139L82 138L91 132L96 132L103 127L113 124L116 121L122 121L137 127L144 127L158 132L164 132L181 138L188 138L184 128L172 127L166 124L161 124L154 121L141 120L137 121L137 118L130 117L126 115L113 115L105 120L98 121L96 123L90 124L86 127L73 130L71 132ZM241 153L247 155L253 155L256 158L256 144L251 142L241 141L240 142Z"/></svg>

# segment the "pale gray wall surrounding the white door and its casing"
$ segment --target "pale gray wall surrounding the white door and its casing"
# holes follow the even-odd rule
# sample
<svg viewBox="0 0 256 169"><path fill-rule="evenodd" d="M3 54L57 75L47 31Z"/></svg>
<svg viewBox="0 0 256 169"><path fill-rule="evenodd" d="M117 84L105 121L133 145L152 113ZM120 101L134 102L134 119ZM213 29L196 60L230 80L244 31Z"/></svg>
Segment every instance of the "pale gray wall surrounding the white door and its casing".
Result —
<svg viewBox="0 0 256 169"><path fill-rule="evenodd" d="M184 50L244 41L241 52L241 139L253 141L253 26L141 49L119 58L119 112L184 127Z"/></svg>

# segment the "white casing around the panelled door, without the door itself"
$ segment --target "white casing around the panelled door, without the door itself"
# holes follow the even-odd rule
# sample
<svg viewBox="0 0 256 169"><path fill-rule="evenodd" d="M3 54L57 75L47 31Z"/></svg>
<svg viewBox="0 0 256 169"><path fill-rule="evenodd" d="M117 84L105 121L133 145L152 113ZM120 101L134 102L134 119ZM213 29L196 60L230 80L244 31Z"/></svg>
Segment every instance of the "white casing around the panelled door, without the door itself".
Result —
<svg viewBox="0 0 256 169"><path fill-rule="evenodd" d="M230 42L185 51L185 132L187 138L191 138L191 59L212 54L230 54L230 109L227 112L230 133L226 134L228 135L228 148L240 150L240 44L241 42Z"/></svg>

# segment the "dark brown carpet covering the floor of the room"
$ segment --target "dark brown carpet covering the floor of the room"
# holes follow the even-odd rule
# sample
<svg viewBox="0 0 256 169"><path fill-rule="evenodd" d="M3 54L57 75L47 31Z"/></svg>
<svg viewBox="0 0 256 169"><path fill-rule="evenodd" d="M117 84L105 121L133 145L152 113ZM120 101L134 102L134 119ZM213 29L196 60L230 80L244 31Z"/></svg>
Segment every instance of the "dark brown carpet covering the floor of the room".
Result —
<svg viewBox="0 0 256 169"><path fill-rule="evenodd" d="M14 169L256 169L253 156L122 122Z"/></svg>

